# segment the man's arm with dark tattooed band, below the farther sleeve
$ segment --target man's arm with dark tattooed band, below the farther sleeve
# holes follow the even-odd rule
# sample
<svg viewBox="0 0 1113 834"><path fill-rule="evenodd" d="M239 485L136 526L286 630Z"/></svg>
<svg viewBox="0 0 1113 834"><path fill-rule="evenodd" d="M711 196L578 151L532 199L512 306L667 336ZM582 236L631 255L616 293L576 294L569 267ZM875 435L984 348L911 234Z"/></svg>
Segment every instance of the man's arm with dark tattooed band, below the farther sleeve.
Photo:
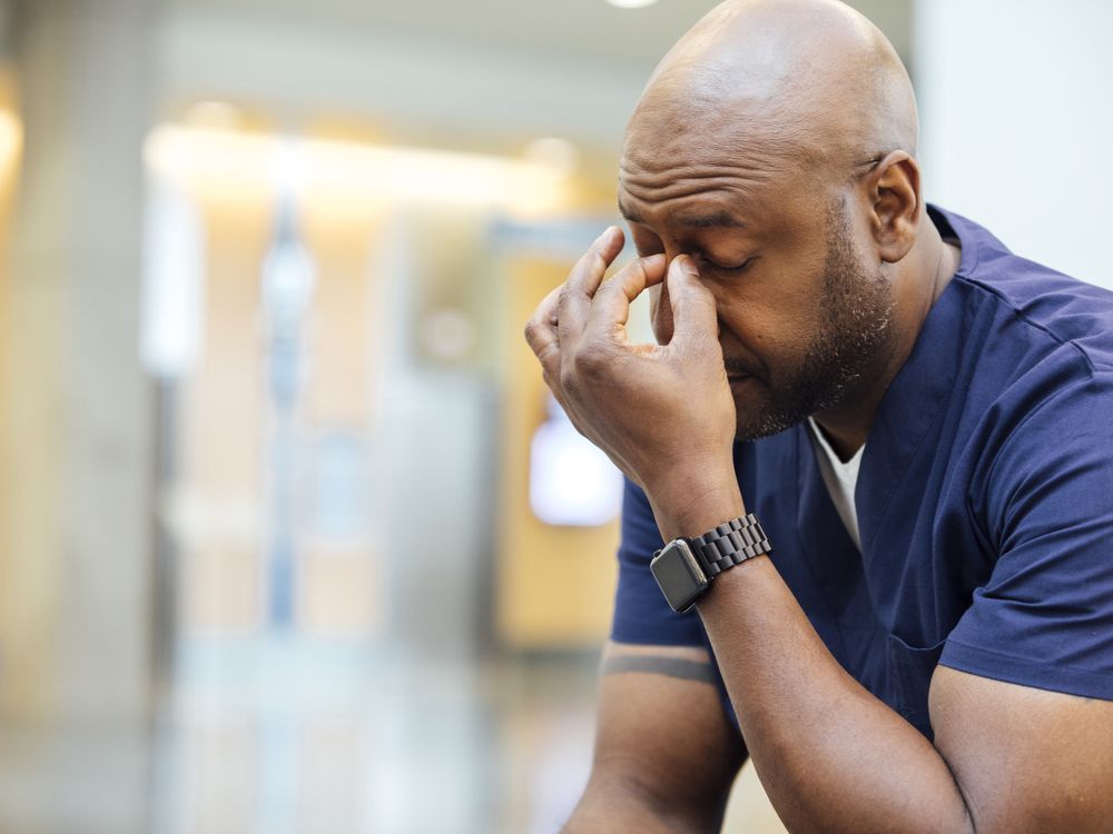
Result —
<svg viewBox="0 0 1113 834"><path fill-rule="evenodd" d="M703 648L609 643L591 778L567 834L717 832L746 757Z"/></svg>

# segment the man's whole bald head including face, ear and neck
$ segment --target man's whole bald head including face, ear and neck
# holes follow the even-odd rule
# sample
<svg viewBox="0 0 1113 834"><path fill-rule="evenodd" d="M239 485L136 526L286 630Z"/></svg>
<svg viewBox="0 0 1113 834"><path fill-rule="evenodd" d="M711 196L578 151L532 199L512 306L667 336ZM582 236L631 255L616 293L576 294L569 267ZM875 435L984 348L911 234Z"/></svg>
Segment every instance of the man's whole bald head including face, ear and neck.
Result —
<svg viewBox="0 0 1113 834"><path fill-rule="evenodd" d="M739 438L814 415L850 449L865 439L957 266L916 131L893 47L836 0L727 0L654 71L619 209L639 254L689 256L715 297ZM667 291L650 290L661 344Z"/></svg>

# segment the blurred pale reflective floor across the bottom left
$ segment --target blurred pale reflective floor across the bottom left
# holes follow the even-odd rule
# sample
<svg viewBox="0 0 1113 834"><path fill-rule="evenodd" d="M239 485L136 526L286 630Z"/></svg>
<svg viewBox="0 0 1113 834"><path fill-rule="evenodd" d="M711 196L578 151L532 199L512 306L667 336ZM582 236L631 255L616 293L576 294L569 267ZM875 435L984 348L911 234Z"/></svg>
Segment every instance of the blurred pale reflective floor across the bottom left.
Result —
<svg viewBox="0 0 1113 834"><path fill-rule="evenodd" d="M223 642L177 666L154 726L0 728L0 834L548 834L587 778L589 656ZM779 831L748 781L728 830Z"/></svg>

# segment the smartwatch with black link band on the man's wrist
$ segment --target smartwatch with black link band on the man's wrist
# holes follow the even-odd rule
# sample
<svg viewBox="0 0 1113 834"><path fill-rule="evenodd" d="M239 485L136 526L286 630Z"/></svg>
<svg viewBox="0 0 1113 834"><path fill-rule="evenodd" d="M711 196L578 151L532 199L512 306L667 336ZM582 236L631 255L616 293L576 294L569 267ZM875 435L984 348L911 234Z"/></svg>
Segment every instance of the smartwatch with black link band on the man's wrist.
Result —
<svg viewBox="0 0 1113 834"><path fill-rule="evenodd" d="M723 570L771 552L761 523L750 513L702 536L672 539L653 554L649 569L672 610L683 614Z"/></svg>

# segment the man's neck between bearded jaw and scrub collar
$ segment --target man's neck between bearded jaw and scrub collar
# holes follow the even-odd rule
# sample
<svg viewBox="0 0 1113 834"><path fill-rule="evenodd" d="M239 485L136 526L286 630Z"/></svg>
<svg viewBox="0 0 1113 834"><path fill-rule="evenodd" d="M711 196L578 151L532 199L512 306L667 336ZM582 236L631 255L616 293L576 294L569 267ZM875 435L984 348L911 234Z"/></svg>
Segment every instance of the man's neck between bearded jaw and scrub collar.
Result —
<svg viewBox="0 0 1113 834"><path fill-rule="evenodd" d="M877 356L877 361L861 375L861 380L831 408L819 411L815 420L827 436L835 454L844 463L866 443L877 407L889 384L904 367L919 336L924 319L958 269L962 252L939 237L935 225L925 217L915 246L895 270L893 292L894 338Z"/></svg>

